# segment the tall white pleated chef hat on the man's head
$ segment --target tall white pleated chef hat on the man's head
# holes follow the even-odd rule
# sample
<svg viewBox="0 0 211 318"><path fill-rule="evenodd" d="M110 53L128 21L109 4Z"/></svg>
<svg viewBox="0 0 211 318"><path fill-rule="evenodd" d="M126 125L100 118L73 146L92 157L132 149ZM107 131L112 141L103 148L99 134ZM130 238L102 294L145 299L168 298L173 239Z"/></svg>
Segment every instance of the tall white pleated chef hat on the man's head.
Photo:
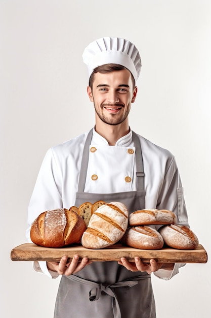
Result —
<svg viewBox="0 0 211 318"><path fill-rule="evenodd" d="M121 38L101 38L90 43L82 54L89 77L101 65L115 63L128 69L135 80L141 71L141 57L133 43Z"/></svg>

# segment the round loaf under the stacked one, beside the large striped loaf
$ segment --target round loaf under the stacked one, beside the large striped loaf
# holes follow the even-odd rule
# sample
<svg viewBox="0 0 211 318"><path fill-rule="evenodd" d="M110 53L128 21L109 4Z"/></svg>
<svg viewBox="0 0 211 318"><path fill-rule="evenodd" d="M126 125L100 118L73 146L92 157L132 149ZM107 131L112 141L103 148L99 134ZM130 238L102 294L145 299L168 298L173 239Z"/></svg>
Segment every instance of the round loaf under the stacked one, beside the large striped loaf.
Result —
<svg viewBox="0 0 211 318"><path fill-rule="evenodd" d="M140 249L160 249L163 247L163 238L155 229L137 226L126 230L121 243Z"/></svg>

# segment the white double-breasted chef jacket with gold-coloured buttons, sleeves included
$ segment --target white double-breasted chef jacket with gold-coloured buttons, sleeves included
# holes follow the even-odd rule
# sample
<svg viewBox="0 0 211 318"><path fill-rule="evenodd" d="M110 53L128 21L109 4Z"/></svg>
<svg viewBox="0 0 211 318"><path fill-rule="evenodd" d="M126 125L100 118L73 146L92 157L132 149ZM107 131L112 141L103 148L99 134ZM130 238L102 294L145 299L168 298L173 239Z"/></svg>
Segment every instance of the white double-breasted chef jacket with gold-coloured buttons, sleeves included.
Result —
<svg viewBox="0 0 211 318"><path fill-rule="evenodd" d="M75 204L83 146L88 132L48 150L40 167L28 209L28 229L42 212L57 208L69 209ZM171 152L138 135L141 143L145 208L173 211L178 224L188 225L183 197L183 187L175 158ZM105 138L93 130L89 164L85 183L88 193L115 193L137 190L135 147L132 131L121 137L115 146L109 146ZM154 274L170 279L184 264L175 264L173 271L160 269ZM48 271L46 262L34 262L34 269L49 277L58 273Z"/></svg>

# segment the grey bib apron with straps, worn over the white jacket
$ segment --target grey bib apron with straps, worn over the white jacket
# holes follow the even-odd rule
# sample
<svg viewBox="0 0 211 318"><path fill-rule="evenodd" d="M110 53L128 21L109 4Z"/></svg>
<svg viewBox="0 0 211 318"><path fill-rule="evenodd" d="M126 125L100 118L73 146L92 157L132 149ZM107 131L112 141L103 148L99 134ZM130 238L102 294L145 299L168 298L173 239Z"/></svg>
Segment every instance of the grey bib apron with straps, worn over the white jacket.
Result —
<svg viewBox="0 0 211 318"><path fill-rule="evenodd" d="M91 130L83 149L75 206L104 200L122 202L129 213L145 208L144 171L141 145L133 132L136 147L137 191L95 194L83 192L89 161ZM60 281L54 318L156 318L151 276L131 272L117 262L93 262L80 272Z"/></svg>

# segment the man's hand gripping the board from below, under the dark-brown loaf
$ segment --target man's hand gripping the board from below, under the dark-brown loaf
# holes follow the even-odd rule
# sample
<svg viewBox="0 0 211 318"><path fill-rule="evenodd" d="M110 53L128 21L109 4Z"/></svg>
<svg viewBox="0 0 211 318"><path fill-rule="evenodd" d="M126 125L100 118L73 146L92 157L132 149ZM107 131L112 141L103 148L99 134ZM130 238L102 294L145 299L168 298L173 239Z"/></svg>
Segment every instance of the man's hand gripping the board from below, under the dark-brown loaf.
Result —
<svg viewBox="0 0 211 318"><path fill-rule="evenodd" d="M79 255L74 255L71 262L67 262L67 257L63 256L61 261L58 262L47 262L47 267L53 272L58 272L60 275L69 276L75 274L83 269L85 266L91 264L87 257L83 258L81 262L78 262Z"/></svg>

